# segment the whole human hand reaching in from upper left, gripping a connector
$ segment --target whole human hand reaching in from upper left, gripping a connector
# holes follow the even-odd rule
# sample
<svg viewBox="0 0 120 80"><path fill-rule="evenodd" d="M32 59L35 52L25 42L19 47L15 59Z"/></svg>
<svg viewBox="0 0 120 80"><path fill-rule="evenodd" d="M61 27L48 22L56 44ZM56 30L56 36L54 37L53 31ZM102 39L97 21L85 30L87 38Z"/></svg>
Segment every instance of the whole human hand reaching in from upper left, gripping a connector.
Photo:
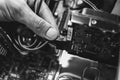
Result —
<svg viewBox="0 0 120 80"><path fill-rule="evenodd" d="M30 8L36 9L40 2L41 0L0 0L0 21L18 21L37 35L54 40L59 32L48 6L43 1L37 15Z"/></svg>

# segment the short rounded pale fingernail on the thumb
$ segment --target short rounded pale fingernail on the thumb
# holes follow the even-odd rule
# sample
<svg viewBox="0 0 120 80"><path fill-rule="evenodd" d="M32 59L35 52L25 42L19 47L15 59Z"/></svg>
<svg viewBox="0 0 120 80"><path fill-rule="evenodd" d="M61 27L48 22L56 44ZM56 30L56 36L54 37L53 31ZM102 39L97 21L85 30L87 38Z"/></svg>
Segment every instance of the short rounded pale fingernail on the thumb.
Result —
<svg viewBox="0 0 120 80"><path fill-rule="evenodd" d="M50 28L46 33L47 39L54 40L58 36L58 31L55 28Z"/></svg>

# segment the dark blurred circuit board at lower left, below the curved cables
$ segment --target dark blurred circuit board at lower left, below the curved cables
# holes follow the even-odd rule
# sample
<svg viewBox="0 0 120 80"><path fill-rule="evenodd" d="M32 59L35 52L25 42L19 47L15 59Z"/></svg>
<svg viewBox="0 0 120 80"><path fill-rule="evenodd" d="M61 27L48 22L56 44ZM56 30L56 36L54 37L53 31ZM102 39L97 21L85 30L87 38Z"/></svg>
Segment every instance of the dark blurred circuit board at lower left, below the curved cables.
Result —
<svg viewBox="0 0 120 80"><path fill-rule="evenodd" d="M4 43L4 44L3 44ZM0 79L1 80L53 80L59 64L45 52L21 54L10 36L0 29Z"/></svg>

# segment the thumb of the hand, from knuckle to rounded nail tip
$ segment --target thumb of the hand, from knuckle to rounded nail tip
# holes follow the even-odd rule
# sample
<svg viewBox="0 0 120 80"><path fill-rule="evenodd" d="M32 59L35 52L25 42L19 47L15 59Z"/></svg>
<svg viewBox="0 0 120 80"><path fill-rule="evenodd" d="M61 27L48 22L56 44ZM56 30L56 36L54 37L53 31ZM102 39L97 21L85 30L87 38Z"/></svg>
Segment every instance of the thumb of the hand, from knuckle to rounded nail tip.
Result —
<svg viewBox="0 0 120 80"><path fill-rule="evenodd" d="M26 5L22 11L22 17L17 19L18 22L25 24L37 35L48 40L54 40L57 38L59 34L58 30L43 18L36 15L28 5Z"/></svg>

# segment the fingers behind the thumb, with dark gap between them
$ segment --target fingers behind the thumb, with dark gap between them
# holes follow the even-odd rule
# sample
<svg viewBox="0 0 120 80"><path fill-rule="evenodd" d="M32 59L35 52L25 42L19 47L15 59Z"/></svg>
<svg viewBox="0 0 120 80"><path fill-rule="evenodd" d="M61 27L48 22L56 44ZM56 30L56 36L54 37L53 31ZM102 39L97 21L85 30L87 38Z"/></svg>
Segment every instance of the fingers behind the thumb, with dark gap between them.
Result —
<svg viewBox="0 0 120 80"><path fill-rule="evenodd" d="M43 0L27 0L27 4L38 16L42 17L58 30L53 14Z"/></svg>

